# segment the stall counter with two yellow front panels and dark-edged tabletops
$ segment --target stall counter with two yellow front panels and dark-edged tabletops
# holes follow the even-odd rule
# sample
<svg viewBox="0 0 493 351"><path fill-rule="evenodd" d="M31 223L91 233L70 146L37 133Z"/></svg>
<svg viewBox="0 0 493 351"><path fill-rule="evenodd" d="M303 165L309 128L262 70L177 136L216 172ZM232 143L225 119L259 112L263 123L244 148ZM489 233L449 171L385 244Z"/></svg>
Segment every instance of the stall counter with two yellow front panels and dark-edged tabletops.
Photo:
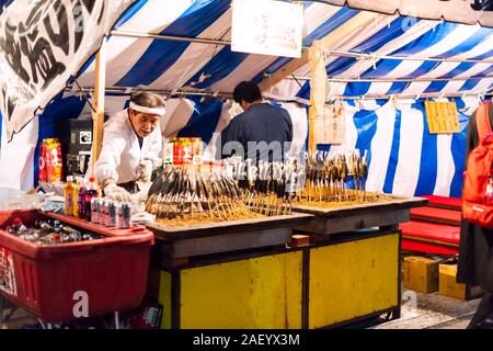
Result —
<svg viewBox="0 0 493 351"><path fill-rule="evenodd" d="M242 203L250 210L260 208L261 214L273 213L265 210L273 193L262 194L262 199L259 190L275 189L262 186L275 180L262 181L255 174L251 179L251 165L234 166L232 174L243 171L246 176L238 182L246 186ZM262 168L261 163L259 174ZM285 162L282 172L287 176L293 169ZM303 173L299 167L295 182L302 180ZM346 189L342 179L335 178L328 178L323 185L310 178L310 167L306 173L305 188L298 184L295 193L283 194L283 211L293 208L290 215L186 225L191 217L183 218L182 207L180 219L147 226L158 242L149 293L164 306L162 328L324 328L386 313L399 318L399 224L409 220L410 208L425 205L426 200L364 194L363 190ZM359 179L366 181L363 176ZM249 201L249 191L261 199ZM334 197L331 201L322 196L329 193ZM337 196L345 199L336 201ZM171 197L163 199L168 208ZM259 207L259 202L263 206ZM207 215L199 222L207 222Z"/></svg>

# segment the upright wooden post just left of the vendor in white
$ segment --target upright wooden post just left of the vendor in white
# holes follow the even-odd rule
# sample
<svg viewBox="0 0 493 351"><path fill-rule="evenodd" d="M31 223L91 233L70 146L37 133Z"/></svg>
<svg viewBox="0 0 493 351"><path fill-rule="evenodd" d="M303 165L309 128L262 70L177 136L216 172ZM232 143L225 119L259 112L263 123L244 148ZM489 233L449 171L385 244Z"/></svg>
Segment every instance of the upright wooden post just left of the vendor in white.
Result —
<svg viewBox="0 0 493 351"><path fill-rule="evenodd" d="M100 157L103 147L103 124L104 124L104 99L106 88L106 37L95 58L95 84L94 84L94 109L93 120L93 144L92 144L92 174L95 174L95 162Z"/></svg>

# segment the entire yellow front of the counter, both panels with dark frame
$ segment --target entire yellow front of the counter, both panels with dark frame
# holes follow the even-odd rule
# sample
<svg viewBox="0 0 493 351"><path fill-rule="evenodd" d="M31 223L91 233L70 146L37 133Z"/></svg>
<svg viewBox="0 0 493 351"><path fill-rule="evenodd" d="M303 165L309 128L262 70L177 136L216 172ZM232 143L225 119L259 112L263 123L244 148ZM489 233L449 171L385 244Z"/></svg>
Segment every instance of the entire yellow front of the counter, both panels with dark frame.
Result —
<svg viewBox="0 0 493 351"><path fill-rule="evenodd" d="M400 233L151 270L163 329L325 328L400 312Z"/></svg>

